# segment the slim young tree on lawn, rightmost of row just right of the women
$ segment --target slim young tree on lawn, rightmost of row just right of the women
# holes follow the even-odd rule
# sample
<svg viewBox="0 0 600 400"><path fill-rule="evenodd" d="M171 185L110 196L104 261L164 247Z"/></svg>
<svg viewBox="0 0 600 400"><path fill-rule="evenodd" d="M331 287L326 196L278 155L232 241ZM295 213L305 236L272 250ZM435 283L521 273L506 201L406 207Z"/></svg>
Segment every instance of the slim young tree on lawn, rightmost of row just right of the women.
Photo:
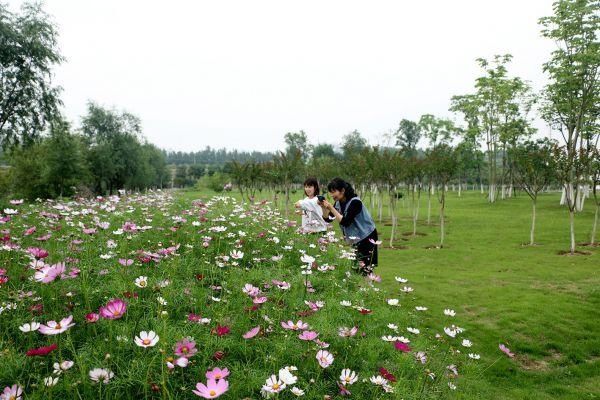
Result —
<svg viewBox="0 0 600 400"><path fill-rule="evenodd" d="M438 201L440 203L440 248L444 247L446 186L454 177L457 169L457 158L454 149L442 143L431 149L427 155L433 180L438 185Z"/></svg>

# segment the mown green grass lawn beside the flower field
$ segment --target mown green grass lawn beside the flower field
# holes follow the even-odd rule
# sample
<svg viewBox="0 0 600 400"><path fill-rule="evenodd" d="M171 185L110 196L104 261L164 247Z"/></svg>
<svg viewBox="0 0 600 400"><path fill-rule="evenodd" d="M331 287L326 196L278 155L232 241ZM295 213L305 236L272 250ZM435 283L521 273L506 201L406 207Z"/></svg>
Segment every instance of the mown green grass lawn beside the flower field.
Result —
<svg viewBox="0 0 600 400"><path fill-rule="evenodd" d="M447 321L440 310L454 308L480 350L486 368L477 379L461 382L458 398L600 398L600 248L580 247L592 253L587 256L558 255L569 244L568 213L559 197L538 200L535 247L521 245L528 242L531 218L523 194L492 205L479 192L461 198L449 193L443 249L426 249L439 241L435 198L432 225L426 224L422 198L418 231L424 235L400 236L395 246L404 249L387 248L384 210L378 223L382 287L400 295L394 276L409 279L414 296L439 315L435 326ZM398 204L399 232L412 231L408 201ZM576 216L578 243L589 240L593 211L589 201ZM504 356L499 343L516 357Z"/></svg>

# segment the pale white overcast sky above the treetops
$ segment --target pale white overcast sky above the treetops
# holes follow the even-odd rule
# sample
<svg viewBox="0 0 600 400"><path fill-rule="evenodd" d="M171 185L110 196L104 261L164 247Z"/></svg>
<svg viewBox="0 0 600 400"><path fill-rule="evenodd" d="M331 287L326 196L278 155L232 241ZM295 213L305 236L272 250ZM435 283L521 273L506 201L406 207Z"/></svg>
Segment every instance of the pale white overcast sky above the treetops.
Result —
<svg viewBox="0 0 600 400"><path fill-rule="evenodd" d="M301 129L313 144L355 129L389 144L403 118L460 122L450 98L473 91L477 58L512 54L509 73L539 90L553 49L537 24L551 0L44 4L66 57L55 83L68 119L77 126L89 100L123 109L168 150L275 151Z"/></svg>

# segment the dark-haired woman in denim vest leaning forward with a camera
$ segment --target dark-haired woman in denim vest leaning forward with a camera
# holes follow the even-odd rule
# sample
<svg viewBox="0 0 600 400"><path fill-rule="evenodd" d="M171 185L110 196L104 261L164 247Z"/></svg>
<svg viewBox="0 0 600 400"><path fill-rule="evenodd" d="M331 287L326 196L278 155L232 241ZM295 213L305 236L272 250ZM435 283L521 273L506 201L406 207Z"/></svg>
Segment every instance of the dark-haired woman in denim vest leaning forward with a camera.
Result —
<svg viewBox="0 0 600 400"><path fill-rule="evenodd" d="M356 249L360 271L368 275L377 265L375 221L350 183L335 178L329 182L327 190L335 204L332 205L327 200L323 200L321 204L340 223L344 238ZM329 219L331 220L331 217Z"/></svg>

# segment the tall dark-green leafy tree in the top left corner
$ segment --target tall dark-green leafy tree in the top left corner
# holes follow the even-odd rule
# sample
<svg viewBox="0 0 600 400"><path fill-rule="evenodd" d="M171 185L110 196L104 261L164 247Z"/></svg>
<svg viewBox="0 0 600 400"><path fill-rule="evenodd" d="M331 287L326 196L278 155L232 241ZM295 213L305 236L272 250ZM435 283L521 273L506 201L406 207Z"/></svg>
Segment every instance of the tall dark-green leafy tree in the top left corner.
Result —
<svg viewBox="0 0 600 400"><path fill-rule="evenodd" d="M31 143L58 114L52 67L63 61L58 32L38 3L20 14L0 3L0 144Z"/></svg>

